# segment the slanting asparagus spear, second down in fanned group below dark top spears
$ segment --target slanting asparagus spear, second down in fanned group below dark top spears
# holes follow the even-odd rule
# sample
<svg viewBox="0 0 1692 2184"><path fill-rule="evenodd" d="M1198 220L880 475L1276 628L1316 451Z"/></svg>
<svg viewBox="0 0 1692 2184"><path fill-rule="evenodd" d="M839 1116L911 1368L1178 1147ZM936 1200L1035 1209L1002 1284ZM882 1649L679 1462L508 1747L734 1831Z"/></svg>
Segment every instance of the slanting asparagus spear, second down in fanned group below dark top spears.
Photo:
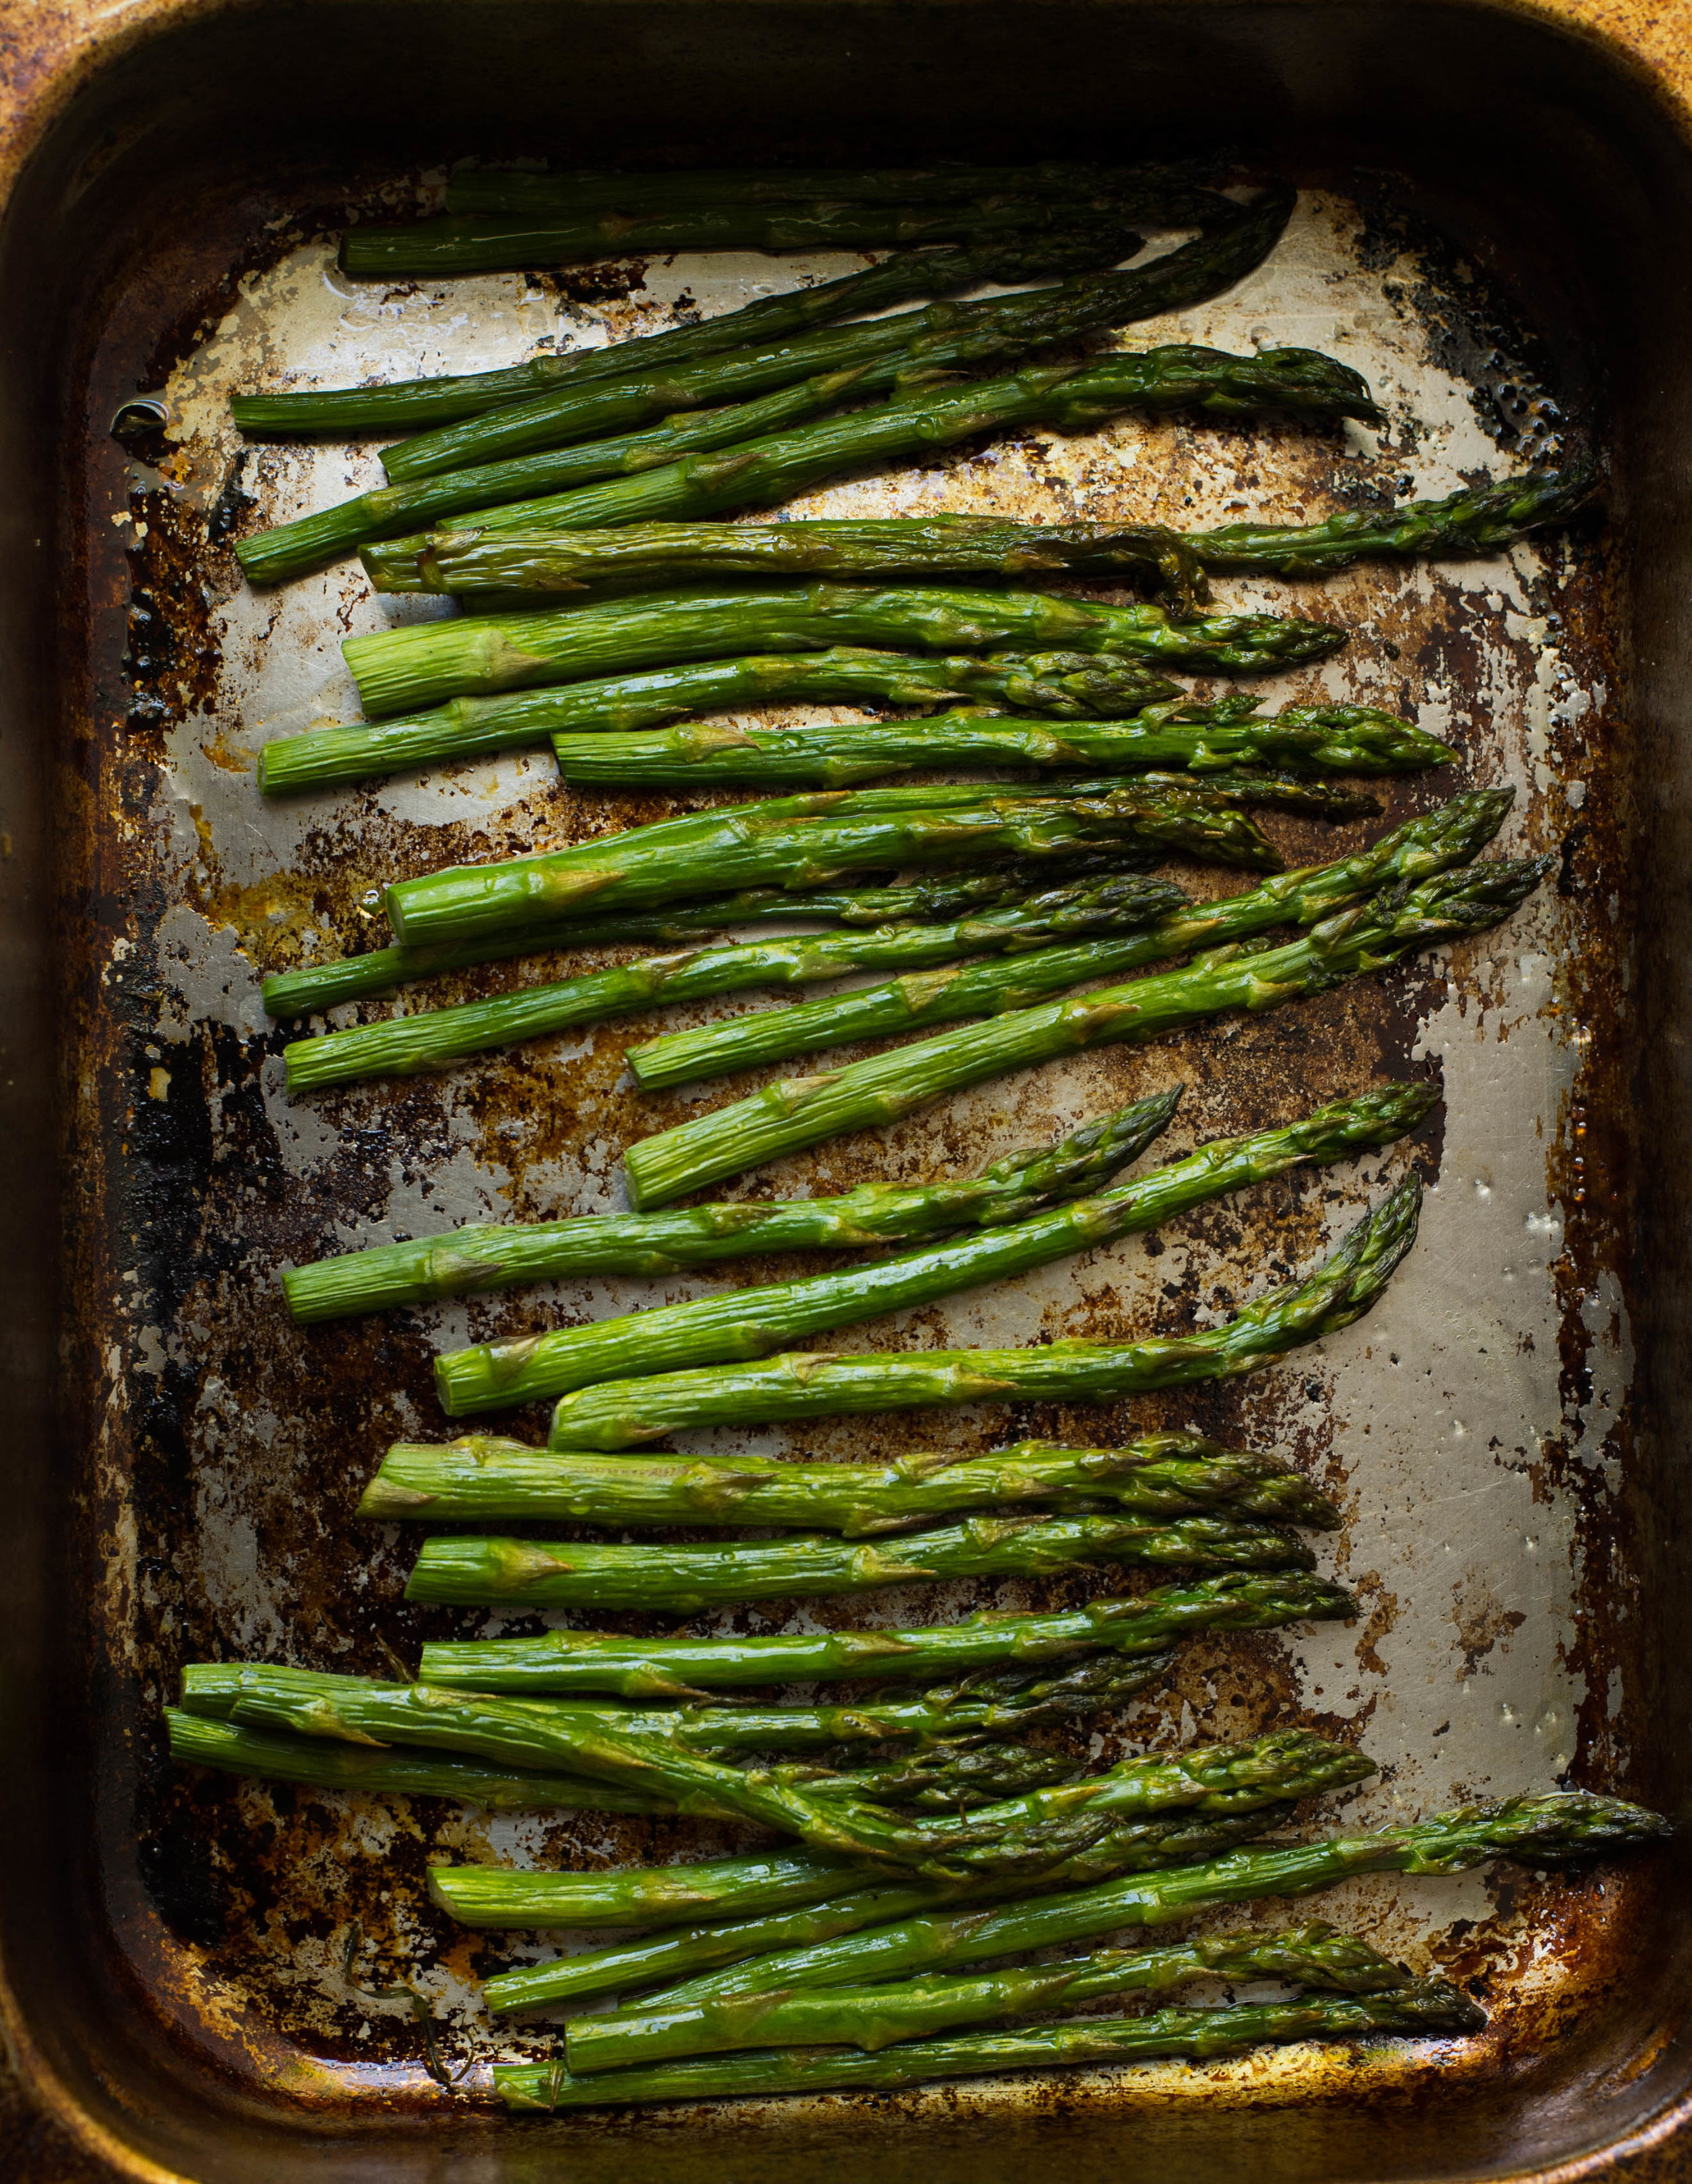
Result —
<svg viewBox="0 0 1692 2184"><path fill-rule="evenodd" d="M1249 225L1249 223L1242 223ZM1251 232L1258 234L1262 223ZM1201 245L1205 249L1205 245ZM1214 249L1214 247L1212 247ZM1238 253L1244 256L1244 253ZM996 363L1079 341L1144 314L1144 273L1092 273L1054 288L1026 288L976 304L858 319L764 347L725 349L696 365L668 367L592 387L565 382L528 402L504 404L439 426L389 448L389 478L428 478L535 454L572 439L596 439L677 411L744 402L825 371L858 371L860 393L910 384L939 371Z"/></svg>

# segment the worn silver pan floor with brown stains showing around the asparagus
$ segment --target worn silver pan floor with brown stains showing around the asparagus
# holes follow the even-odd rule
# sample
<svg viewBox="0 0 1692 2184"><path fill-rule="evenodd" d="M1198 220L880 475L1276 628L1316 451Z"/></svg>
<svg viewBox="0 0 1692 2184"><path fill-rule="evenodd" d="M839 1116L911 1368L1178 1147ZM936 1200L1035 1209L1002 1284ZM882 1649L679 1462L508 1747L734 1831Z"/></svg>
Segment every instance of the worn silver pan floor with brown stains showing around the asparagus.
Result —
<svg viewBox="0 0 1692 2184"><path fill-rule="evenodd" d="M1373 382L1391 419L1384 435L1124 419L1081 439L1030 432L934 467L845 483L808 496L797 513L1299 520L1325 513L1341 494L1443 494L1482 467L1520 463L1520 448L1498 446L1500 408L1485 371L1465 376L1452 360L1430 266L1402 242L1351 199L1308 192L1264 269L1216 304L1124 336L1135 347L1179 339L1332 349ZM124 821L127 882L107 895L109 930L94 946L118 985L124 965L148 965L138 1136L192 1116L183 1129L199 1133L210 1177L192 1195L175 1286L138 1273L114 1234L109 1304L94 1330L103 1461L124 1509L114 1527L122 1553L109 1566L105 1631L148 1701L172 1697L177 1664L205 1651L384 1673L389 1662L415 1662L426 1629L509 1627L404 1610L413 1533L351 1520L384 1439L450 1431L430 1393L428 1352L720 1286L581 1282L389 1326L293 1330L277 1267L467 1219L620 1206L620 1155L635 1136L744 1090L642 1099L629 1085L622 1048L659 1024L712 1013L694 1009L537 1042L441 1079L286 1099L279 1042L266 1040L260 1007L262 970L356 946L373 915L371 891L389 878L605 832L668 806L568 795L541 753L266 806L253 782L266 736L354 710L338 640L389 616L443 612L443 603L382 601L351 563L279 592L247 590L227 548L205 539L221 494L238 522L275 522L380 472L373 450L341 446L264 448L231 470L238 437L227 395L238 384L476 369L528 354L537 341L572 345L603 339L605 328L659 328L677 308L729 308L797 275L847 269L847 260L683 258L646 266L644 286L624 301L574 306L552 284L517 275L384 293L347 282L330 247L310 242L242 277L221 323L166 387L162 461L153 450L155 461L131 465L131 498L94 511L131 548L144 592L153 587L146 596L170 594L159 612L181 633L177 666L159 668L155 657L142 673L164 690L148 729L159 736L159 786ZM227 500L231 476L253 509ZM203 605L192 601L199 583ZM1356 631L1325 666L1266 681L1271 703L1402 701L1450 736L1461 769L1389 786L1393 817L1452 786L1513 782L1517 806L1502 847L1568 845L1568 885L1544 889L1500 933L1432 957L1410 976L1133 1055L1024 1072L740 1188L832 1190L978 1166L1175 1081L1190 1088L1168 1140L1179 1147L1415 1070L1439 1075L1445 1105L1408 1153L1286 1179L1164 1236L830 1341L1024 1343L1210 1324L1310 1265L1406 1158L1430 1184L1415 1256L1365 1324L1227 1389L1113 1413L1013 1420L982 1409L838 1422L803 1439L718 1435L699 1446L841 1457L991 1446L1013 1426L1109 1439L1188 1422L1244 1446L1282 1446L1343 1500L1345 1531L1321 1553L1356 1588L1365 1621L1199 1645L1175 1684L1096 1741L1098 1752L1295 1719L1356 1732L1382 1769L1343 1808L1356 1824L1548 1789L1576 1756L1578 1780L1622 1780L1629 1690L1607 1631L1629 1572L1609 1551L1607 1516L1627 1459L1633 1358L1613 1265L1618 1210L1609 1199L1576 1208L1594 1072L1605 1068L1605 1048L1616 1048L1631 976L1605 882L1624 812L1598 566L1589 544L1550 542L1461 566L1371 563L1323 585L1220 579L1216 590L1227 605L1319 612ZM131 653L144 644L131 636ZM1279 817L1268 830L1297 858L1371 832ZM1216 874L1183 878L1231 885ZM402 1007L546 974L546 963L498 965L415 989ZM334 1016L351 1020L356 1011ZM734 1278L731 1269L725 1280ZM742 1278L766 1280L771 1269ZM153 1474L146 1461L138 1470L135 1455L157 1404L179 1422L181 1479L168 1494L146 1485ZM1602 1553L1598 1540L1609 1542ZM1013 1607L1085 1590L1105 1590L1105 1579L1006 1581L939 1597L908 1588L873 1603L821 1601L790 1616L777 1607L731 1621L932 1618L982 1601ZM124 1767L118 1778L127 1782ZM734 1839L598 1815L445 1813L177 1778L157 1756L144 1758L140 1826L164 1848L124 1948L190 2038L212 2038L225 2060L245 2057L240 2066L306 2099L338 2101L378 2086L445 2099L424 2075L404 2005L382 2011L349 1996L343 1950L354 1922L369 1944L360 1983L413 1977L439 2007L452 2055L480 2066L535 2053L548 2033L493 2031L474 1974L504 1957L546 1955L555 1937L507 1950L500 1937L456 1933L421 1900L428 1859L598 1863ZM1520 1874L1502 1891L1489 1876L1358 1883L1321 1909L1417 1968L1443 1963L1487 1983L1493 2031L1445 2057L1447 2070L1471 2073L1533 2053L1557 2014L1602 1981L1635 1915L1627 1880L1524 1885ZM1275 1907L1255 1915L1273 1920ZM1116 2084L1113 2097L1129 2101L1277 2101L1316 2092L1325 2068L1295 2051L1166 2070L1155 2081L1129 2073L1120 2084L1109 2073L1096 2081ZM1373 2051L1347 2066L1347 2086L1362 2092L1417 2068L1397 2051ZM1028 2088L982 2084L932 2099L991 2114L1026 2103Z"/></svg>

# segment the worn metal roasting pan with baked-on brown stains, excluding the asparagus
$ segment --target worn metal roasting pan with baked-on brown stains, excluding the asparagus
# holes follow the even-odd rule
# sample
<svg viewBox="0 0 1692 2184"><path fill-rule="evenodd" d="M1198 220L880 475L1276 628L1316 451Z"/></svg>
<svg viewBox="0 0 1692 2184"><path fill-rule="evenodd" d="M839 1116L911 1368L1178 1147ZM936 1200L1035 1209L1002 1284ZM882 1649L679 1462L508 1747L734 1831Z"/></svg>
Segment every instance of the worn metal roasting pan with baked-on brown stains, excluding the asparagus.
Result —
<svg viewBox="0 0 1692 2184"><path fill-rule="evenodd" d="M266 806L264 740L351 710L341 638L443 609L382 601L347 563L245 587L234 535L380 472L371 448L242 450L227 397L478 369L849 269L688 256L439 288L347 282L332 240L347 207L419 203L439 181L430 157L910 157L937 149L941 83L945 151L1137 153L1183 109L1242 173L1299 179L1264 269L1127 339L1323 347L1369 376L1389 422L1028 432L830 487L801 513L1316 518L1450 491L1592 430L1611 456L1607 509L1568 537L1323 585L1218 581L1225 605L1319 612L1354 631L1332 662L1266 681L1271 703L1402 705L1452 743L1456 767L1389 784L1373 826L1456 786L1511 784L1502 847L1552 852L1557 876L1506 928L1408 974L1024 1072L734 1186L974 1171L1175 1083L1188 1090L1168 1144L1185 1147L1386 1075L1430 1079L1441 1105L1389 1155L830 1341L921 1350L1214 1324L1308 1267L1415 1166L1421 1241L1360 1326L1247 1380L1118 1409L982 1406L692 1446L869 1459L1194 1426L1282 1448L1345 1511L1321 1557L1358 1594L1358 1621L1190 1645L1166 1686L1105 1725L1098 1756L1310 1723L1380 1765L1327 1806L1356 1826L1561 1782L1683 1808L1675 603L1688 539L1670 500L1692 424L1670 369L1685 306L1653 269L1683 247L1692 190L1648 94L1485 7L419 7L404 35L380 7L214 9L96 55L0 245L13 480L0 612L15 662L0 697L0 1280L15 1422L0 1961L20 2066L96 2173L609 2184L869 2164L1013 2177L1057 2153L1092 2175L1116 2169L1122 2132L1148 2167L1194 2184L1622 2175L1644 2173L1631 2162L1651 2149L1664 2175L1681 2173L1675 1856L1585 1878L1371 1880L1319 1904L1480 1994L1491 2025L1467 2042L509 2123L487 2101L489 2064L546 2053L555 2027L489 2025L476 1981L552 1939L456 1931L426 1902L426 1865L592 1867L747 1837L489 1819L181 1773L164 1756L157 1710L186 1660L406 1673L426 1636L515 1627L406 1607L417 1533L351 1516L389 1439L450 1431L430 1393L439 1343L799 1271L288 1324L277 1271L290 1262L467 1219L620 1206L627 1144L725 1088L631 1088L631 1040L710 1013L670 1011L432 1079L286 1096L264 970L362 946L391 878L675 804L568 795L550 760L522 756ZM1500 83L1515 87L1506 116L1487 105ZM559 116L568 153L550 133ZM120 443L111 419L138 393L164 422L131 413ZM1288 860L1371 834L1266 826ZM465 974L441 998L548 970ZM539 1411L520 1420L535 1437L541 1426ZM720 1627L932 1618L1107 1588L906 1588L771 1603ZM1271 1924L1275 1907L1229 1915L1249 1920ZM430 1998L465 2070L450 2092L408 2009L349 1987L354 1928L360 1985L406 1977Z"/></svg>

